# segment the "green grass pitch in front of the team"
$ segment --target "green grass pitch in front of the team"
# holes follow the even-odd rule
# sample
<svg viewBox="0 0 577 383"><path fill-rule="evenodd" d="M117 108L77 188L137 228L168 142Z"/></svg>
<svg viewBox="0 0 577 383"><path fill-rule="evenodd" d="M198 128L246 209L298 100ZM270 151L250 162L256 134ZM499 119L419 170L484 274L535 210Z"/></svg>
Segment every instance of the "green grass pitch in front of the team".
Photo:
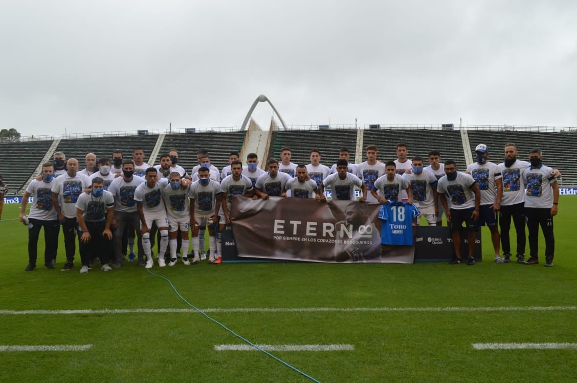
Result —
<svg viewBox="0 0 577 383"><path fill-rule="evenodd" d="M238 309L208 315L253 343L352 345L354 350L347 351L271 352L321 382L575 382L575 348L472 346L577 343L577 198L561 196L559 207L552 268L544 267L542 252L536 266L494 263L489 232L483 228L485 261L473 267L179 263L152 271L170 279L198 308ZM55 270L42 268L39 261L36 270L24 272L27 229L16 219L18 210L6 204L0 221L0 345L92 347L0 352L0 381L312 381L263 352L216 351L217 344L243 342L196 312L14 314L190 309L166 280L134 263L106 273L95 267L81 275L77 256L72 270L60 271L62 236ZM42 237L39 244L42 260ZM308 310L288 310L298 308Z"/></svg>

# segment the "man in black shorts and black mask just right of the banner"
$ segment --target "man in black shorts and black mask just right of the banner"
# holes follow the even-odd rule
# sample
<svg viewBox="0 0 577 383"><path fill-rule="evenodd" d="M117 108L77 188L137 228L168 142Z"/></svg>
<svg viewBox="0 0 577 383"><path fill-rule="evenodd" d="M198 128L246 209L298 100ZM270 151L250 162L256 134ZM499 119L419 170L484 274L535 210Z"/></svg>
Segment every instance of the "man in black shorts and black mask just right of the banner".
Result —
<svg viewBox="0 0 577 383"><path fill-rule="evenodd" d="M479 218L479 206L481 205L481 192L477 181L466 173L457 171L456 162L445 161L445 176L437 183L437 191L451 198L451 209L447 205L447 199L441 199L447 217L451 220L451 233L455 256L449 264L461 263L461 234L460 229L465 223L467 227L467 242L469 245L469 257L467 264L475 264L473 251L475 249L475 221Z"/></svg>

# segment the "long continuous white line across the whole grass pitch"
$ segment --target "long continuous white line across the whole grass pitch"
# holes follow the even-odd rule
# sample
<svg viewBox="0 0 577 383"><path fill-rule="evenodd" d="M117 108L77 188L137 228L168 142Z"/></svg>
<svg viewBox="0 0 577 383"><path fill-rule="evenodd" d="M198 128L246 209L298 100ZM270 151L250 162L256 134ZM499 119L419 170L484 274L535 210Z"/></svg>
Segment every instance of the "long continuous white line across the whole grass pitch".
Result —
<svg viewBox="0 0 577 383"><path fill-rule="evenodd" d="M577 306L207 308L205 313L574 311ZM0 310L0 315L197 313L194 309Z"/></svg>

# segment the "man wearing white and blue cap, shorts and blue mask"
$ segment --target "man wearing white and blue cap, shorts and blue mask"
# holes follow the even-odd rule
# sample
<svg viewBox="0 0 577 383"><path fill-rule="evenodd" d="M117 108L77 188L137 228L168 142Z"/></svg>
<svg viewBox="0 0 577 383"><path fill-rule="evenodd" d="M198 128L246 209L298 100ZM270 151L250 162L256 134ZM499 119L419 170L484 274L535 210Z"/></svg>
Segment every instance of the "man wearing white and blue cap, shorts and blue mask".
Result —
<svg viewBox="0 0 577 383"><path fill-rule="evenodd" d="M475 147L475 160L473 164L467 166L467 173L477 181L481 192L481 206L479 210L479 226L488 226L491 232L491 241L495 251L495 261L503 263L500 253L499 229L497 229L497 214L501 206L503 196L503 180L499 166L487 161L489 149L484 143L479 143Z"/></svg>

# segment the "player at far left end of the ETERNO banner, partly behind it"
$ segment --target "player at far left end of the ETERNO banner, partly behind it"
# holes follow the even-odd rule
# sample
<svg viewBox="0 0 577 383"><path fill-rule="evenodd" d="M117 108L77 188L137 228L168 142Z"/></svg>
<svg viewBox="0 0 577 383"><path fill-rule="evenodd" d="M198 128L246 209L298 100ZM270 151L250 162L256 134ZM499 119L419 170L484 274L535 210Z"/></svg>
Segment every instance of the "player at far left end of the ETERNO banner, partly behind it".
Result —
<svg viewBox="0 0 577 383"><path fill-rule="evenodd" d="M222 240L220 238L220 233L222 230L226 229L227 225L230 225L230 213L232 212L232 197L233 195L243 195L246 197L252 197L254 195L254 188L252 181L248 177L242 175L242 162L233 161L231 166L230 176L224 177L220 183L220 188L222 190L222 208L219 211L219 226L218 233L215 233L216 237L216 257L215 263L220 263L222 259Z"/></svg>

